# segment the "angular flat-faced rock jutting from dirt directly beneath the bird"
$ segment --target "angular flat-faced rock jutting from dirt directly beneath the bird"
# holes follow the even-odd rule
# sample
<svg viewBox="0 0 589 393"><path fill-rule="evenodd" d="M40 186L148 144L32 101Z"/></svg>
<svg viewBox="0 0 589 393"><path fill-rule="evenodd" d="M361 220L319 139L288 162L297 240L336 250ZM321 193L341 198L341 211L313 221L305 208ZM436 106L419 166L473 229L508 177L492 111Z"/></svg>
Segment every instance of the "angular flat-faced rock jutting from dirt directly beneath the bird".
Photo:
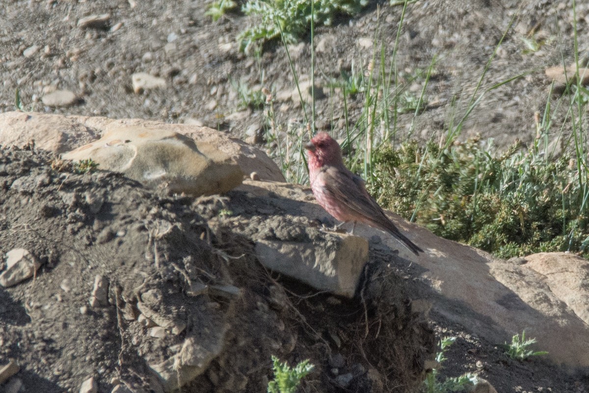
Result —
<svg viewBox="0 0 589 393"><path fill-rule="evenodd" d="M330 233L322 244L260 240L256 256L262 265L318 290L353 298L366 262L368 241Z"/></svg>

